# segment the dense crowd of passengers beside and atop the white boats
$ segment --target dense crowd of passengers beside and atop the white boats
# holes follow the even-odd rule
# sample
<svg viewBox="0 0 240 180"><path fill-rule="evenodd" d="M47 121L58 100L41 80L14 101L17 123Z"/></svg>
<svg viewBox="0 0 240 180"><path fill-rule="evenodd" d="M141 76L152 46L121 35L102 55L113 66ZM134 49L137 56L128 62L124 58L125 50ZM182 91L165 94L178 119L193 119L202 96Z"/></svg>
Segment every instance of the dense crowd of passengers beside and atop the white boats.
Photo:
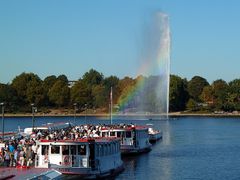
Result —
<svg viewBox="0 0 240 180"><path fill-rule="evenodd" d="M18 138L11 137L4 142L4 147L0 149L0 164L5 167L33 166L36 155L39 155L40 140L77 140L80 138L99 137L103 128L115 129L134 127L133 124L126 125L80 125L69 126L59 130L34 130L31 135ZM1 143L1 140L0 140Z"/></svg>

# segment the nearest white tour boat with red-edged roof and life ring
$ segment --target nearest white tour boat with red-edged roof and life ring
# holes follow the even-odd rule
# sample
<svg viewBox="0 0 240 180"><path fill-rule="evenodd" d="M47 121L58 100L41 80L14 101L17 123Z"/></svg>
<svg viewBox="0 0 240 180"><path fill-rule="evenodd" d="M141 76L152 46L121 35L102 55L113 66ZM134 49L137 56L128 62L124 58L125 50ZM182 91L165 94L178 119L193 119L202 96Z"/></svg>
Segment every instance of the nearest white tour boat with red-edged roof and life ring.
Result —
<svg viewBox="0 0 240 180"><path fill-rule="evenodd" d="M57 170L66 177L101 178L123 170L118 138L40 140L36 168Z"/></svg>

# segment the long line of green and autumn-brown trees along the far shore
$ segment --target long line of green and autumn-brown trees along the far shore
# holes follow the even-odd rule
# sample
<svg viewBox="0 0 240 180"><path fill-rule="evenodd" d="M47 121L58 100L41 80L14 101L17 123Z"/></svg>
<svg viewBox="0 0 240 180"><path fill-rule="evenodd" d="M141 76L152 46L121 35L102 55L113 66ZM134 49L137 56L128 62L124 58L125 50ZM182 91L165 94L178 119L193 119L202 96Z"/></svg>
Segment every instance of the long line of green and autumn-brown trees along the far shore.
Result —
<svg viewBox="0 0 240 180"><path fill-rule="evenodd" d="M39 78L34 73L22 73L16 76L9 84L0 84L0 102L5 102L8 112L30 112L34 103L41 112L50 109L73 109L77 104L79 112L86 108L108 112L110 102L110 89L113 89L113 104L115 111L121 110L119 102L124 100L129 90L137 86L139 79L116 76L104 77L94 69L86 72L81 78L69 86L66 75L51 75L45 79ZM145 77L149 84L159 78ZM145 92L147 98L151 98L151 88ZM151 109L156 103L149 103ZM176 75L170 76L169 110L175 111L239 111L240 110L240 79L229 83L222 79L212 84L200 76L194 76L191 80Z"/></svg>

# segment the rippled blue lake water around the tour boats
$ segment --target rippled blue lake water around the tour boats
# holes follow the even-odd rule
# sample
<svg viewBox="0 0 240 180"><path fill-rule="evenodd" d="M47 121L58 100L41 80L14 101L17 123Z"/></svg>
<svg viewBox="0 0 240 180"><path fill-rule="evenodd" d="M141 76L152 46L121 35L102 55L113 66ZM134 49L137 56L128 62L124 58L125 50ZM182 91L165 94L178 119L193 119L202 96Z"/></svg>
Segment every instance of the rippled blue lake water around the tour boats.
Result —
<svg viewBox="0 0 240 180"><path fill-rule="evenodd" d="M152 123L163 139L152 151L123 158L118 180L240 179L240 118L180 117L169 120L118 118L114 123ZM36 125L73 117L37 117ZM77 117L76 123L109 123L106 118ZM31 127L31 118L5 118L6 130Z"/></svg>

